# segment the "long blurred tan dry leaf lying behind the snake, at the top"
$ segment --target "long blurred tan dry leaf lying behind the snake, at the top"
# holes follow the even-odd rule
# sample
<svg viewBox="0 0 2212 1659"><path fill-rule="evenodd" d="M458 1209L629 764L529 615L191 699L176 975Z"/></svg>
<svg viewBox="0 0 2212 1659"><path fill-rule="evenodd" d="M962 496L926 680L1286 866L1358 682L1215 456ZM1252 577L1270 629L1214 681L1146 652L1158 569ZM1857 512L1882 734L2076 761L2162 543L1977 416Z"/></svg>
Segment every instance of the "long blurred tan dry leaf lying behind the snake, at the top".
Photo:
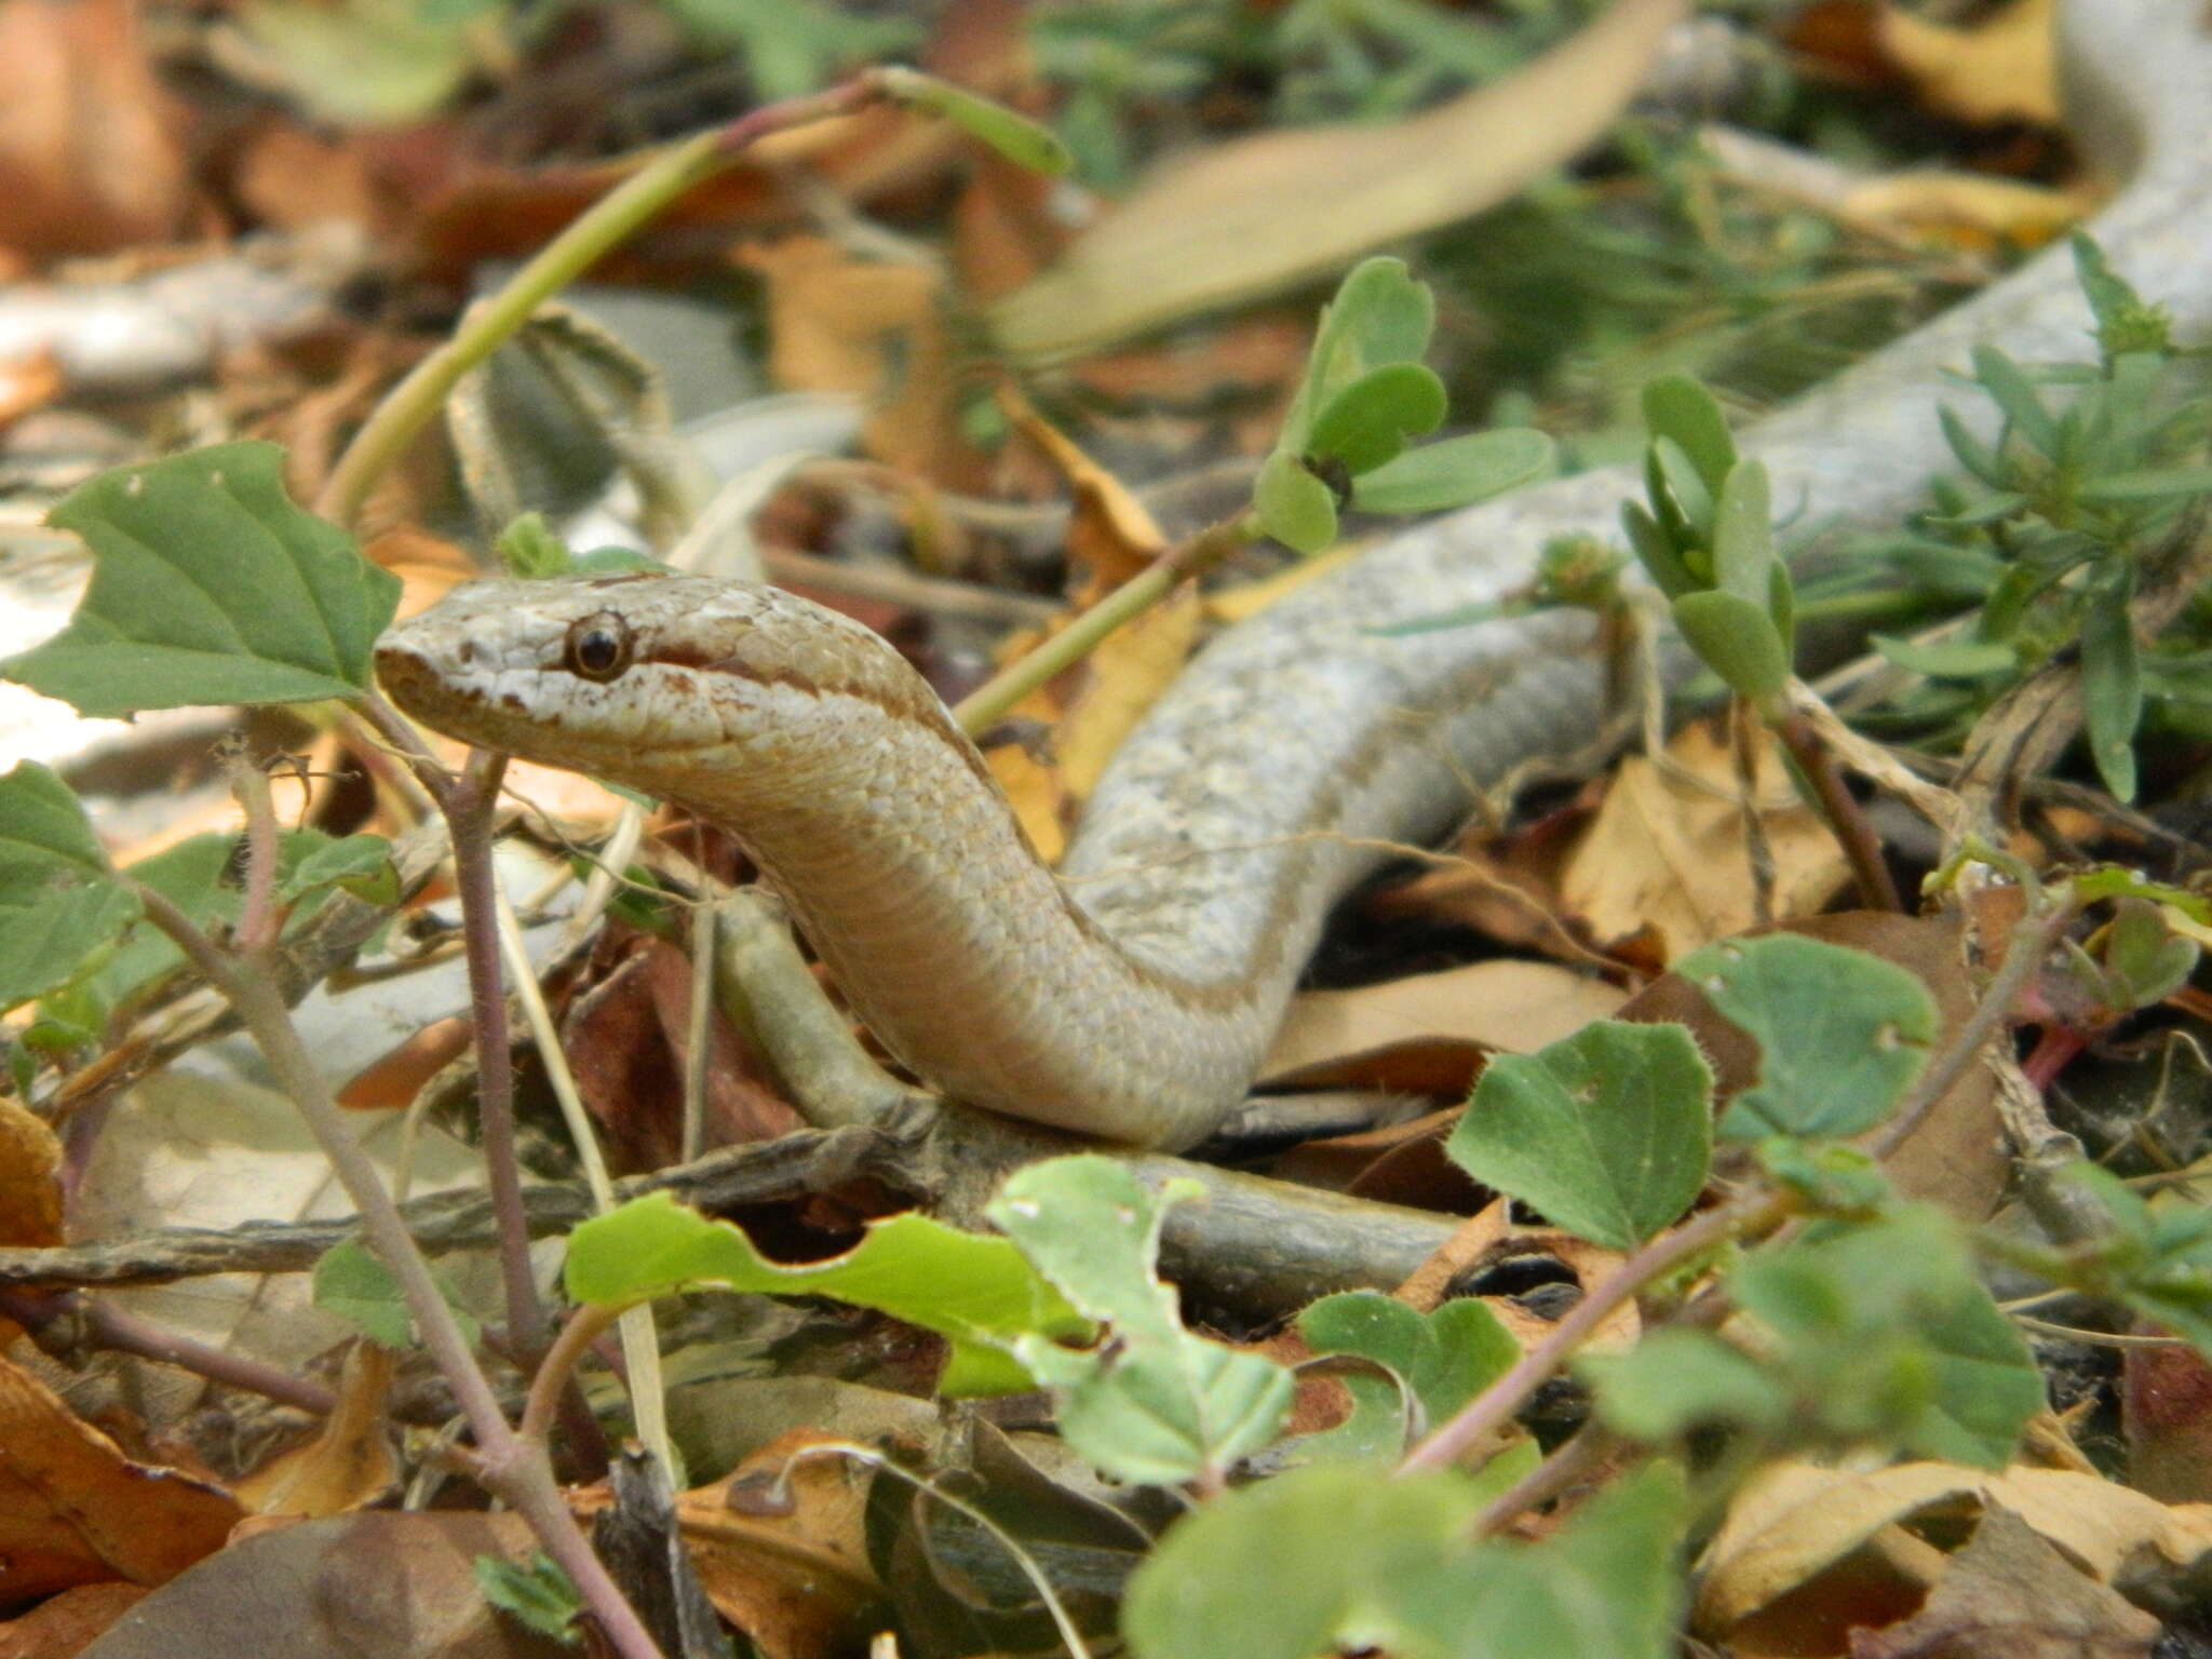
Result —
<svg viewBox="0 0 2212 1659"><path fill-rule="evenodd" d="M1018 358L1095 349L1467 219L1590 144L1683 0L1617 0L1513 75L1422 115L1263 133L1170 164L991 310Z"/></svg>

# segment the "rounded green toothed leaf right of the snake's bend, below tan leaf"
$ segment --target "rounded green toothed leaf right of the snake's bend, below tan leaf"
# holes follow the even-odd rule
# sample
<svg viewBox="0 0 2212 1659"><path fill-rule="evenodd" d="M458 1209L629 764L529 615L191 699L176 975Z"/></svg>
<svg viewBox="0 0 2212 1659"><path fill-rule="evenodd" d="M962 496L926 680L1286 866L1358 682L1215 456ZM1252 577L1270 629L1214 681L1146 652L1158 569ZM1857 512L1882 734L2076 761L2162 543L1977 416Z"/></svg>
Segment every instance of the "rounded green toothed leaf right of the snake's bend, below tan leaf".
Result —
<svg viewBox="0 0 2212 1659"><path fill-rule="evenodd" d="M1555 1225L1632 1250L1705 1186L1712 1068L1681 1026L1597 1020L1491 1060L1444 1152Z"/></svg>

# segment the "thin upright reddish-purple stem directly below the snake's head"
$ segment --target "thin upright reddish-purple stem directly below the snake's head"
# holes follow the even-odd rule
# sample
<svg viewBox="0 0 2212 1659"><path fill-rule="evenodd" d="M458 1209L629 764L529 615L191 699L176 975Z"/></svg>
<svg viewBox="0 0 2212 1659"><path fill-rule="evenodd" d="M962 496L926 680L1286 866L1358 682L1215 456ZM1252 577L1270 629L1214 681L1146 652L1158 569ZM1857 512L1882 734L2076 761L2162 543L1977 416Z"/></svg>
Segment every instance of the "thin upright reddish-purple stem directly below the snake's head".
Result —
<svg viewBox="0 0 2212 1659"><path fill-rule="evenodd" d="M522 1201L522 1155L515 1144L515 1053L507 1029L507 982L500 975L498 872L491 865L491 821L500 805L507 757L476 750L438 807L453 838L453 887L460 894L460 945L469 967L469 1024L476 1033L476 1121L484 1139L484 1183L500 1223L500 1276L507 1285L507 1340L522 1367L544 1354L546 1314L531 1270L529 1208Z"/></svg>

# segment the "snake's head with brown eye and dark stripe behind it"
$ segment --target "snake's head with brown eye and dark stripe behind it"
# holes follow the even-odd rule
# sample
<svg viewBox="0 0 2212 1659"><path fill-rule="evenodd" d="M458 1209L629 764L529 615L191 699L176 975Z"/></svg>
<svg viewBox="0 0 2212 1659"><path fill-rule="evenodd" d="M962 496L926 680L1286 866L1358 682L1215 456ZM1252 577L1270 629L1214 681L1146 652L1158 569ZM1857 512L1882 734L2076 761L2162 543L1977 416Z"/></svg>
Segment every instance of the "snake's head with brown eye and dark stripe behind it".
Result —
<svg viewBox="0 0 2212 1659"><path fill-rule="evenodd" d="M942 719L849 617L697 575L471 582L389 628L376 675L447 737L675 799L706 768L790 763L843 697Z"/></svg>

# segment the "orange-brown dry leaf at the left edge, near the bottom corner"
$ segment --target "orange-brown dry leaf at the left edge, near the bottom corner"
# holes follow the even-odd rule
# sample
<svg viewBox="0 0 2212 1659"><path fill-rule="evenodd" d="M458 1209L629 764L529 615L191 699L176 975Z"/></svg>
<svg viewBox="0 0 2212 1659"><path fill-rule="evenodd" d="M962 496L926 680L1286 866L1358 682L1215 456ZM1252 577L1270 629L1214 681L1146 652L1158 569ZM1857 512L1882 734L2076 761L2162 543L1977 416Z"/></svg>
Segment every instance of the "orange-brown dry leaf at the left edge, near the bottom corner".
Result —
<svg viewBox="0 0 2212 1659"><path fill-rule="evenodd" d="M0 1608L71 1584L164 1584L219 1551L241 1515L221 1486L133 1462L0 1358Z"/></svg>

